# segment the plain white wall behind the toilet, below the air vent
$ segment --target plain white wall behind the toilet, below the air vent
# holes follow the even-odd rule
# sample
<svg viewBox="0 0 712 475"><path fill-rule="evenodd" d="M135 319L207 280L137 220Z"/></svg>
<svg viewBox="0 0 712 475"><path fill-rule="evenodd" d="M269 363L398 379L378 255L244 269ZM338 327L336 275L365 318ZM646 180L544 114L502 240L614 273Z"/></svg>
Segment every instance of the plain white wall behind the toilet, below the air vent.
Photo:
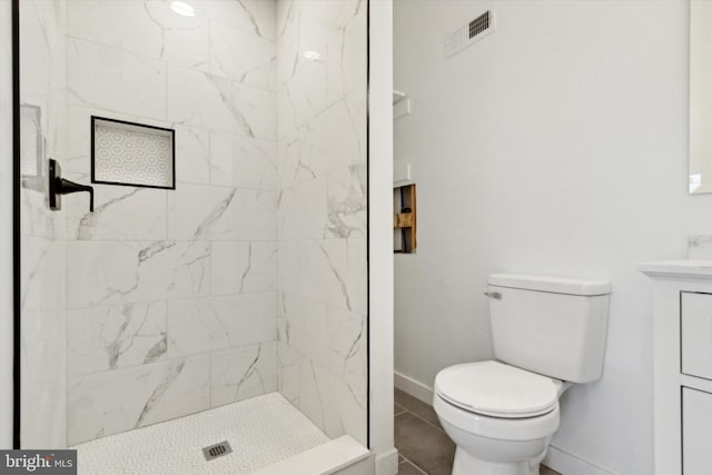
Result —
<svg viewBox="0 0 712 475"><path fill-rule="evenodd" d="M447 32L494 8L497 30L444 60ZM636 263L712 231L688 188L688 4L414 1L394 7L396 161L413 165L418 249L397 256L396 370L491 356L493 271L611 280L603 378L562 399L553 445L652 473L652 286Z"/></svg>

